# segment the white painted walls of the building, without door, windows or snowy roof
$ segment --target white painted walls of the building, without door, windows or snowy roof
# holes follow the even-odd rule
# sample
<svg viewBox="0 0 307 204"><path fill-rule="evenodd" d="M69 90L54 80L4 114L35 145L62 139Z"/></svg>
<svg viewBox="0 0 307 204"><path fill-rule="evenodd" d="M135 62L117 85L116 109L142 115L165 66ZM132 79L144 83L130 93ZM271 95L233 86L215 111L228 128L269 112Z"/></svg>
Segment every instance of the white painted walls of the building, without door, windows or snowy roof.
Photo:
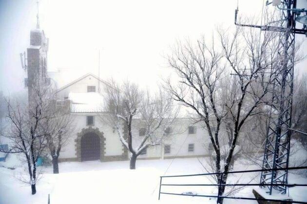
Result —
<svg viewBox="0 0 307 204"><path fill-rule="evenodd" d="M99 83L102 90L103 83ZM98 80L92 76L86 76L85 78L77 81L75 84L66 87L65 89L58 92L58 98L63 99L68 97L70 92L82 93L87 92L88 85L95 85L96 92L98 91ZM89 114L91 115L91 114ZM95 117L95 126L93 128L99 128L100 131L104 133L106 138L105 147L106 147L106 156L111 155L121 155L123 152L123 146L120 142L119 136L116 131L113 131L112 127L104 124L96 114L92 114ZM76 157L76 148L75 148L75 139L77 138L77 133L81 132L82 128L88 128L86 126L86 116L87 114L74 114L73 118L75 120L76 126L74 131L70 135L68 144L62 148L62 153L60 158L74 158ZM163 140L163 144L171 145L171 153L162 155L163 145L150 147L147 150L146 155L140 155L140 158L150 158L150 157L167 157L167 156L192 156L192 155L208 155L209 154L209 136L207 130L203 129L200 125L196 126L196 134L189 135L188 127L192 126L192 121L189 119L179 119L175 124L173 124L173 134L166 137ZM137 148L141 142L143 136L139 136L139 128L137 120L134 121L133 127L133 146ZM160 130L157 134L163 134L163 131ZM223 141L221 141L221 144ZM194 152L188 152L189 144L194 144Z"/></svg>

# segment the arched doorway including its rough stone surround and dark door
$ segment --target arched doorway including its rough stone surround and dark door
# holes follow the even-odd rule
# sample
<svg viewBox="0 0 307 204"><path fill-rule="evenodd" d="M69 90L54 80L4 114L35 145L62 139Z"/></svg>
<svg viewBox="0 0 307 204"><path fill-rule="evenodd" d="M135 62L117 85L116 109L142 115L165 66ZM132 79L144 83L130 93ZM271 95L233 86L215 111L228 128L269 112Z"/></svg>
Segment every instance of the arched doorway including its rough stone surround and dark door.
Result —
<svg viewBox="0 0 307 204"><path fill-rule="evenodd" d="M83 128L77 133L76 155L78 161L103 161L105 153L105 138L98 128Z"/></svg>

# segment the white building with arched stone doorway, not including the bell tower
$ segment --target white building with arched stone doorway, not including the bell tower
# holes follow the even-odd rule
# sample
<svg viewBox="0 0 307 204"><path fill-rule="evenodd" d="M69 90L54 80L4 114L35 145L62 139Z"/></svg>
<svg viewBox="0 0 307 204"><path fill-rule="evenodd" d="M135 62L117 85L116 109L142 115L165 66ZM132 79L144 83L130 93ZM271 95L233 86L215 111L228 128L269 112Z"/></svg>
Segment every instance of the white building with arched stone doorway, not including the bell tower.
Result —
<svg viewBox="0 0 307 204"><path fill-rule="evenodd" d="M129 159L128 152L115 129L100 118L103 116L103 97L98 90L103 90L104 85L105 83L95 75L86 74L58 88L58 105L69 100L75 123L74 131L60 153L60 161ZM192 126L189 119L179 119L176 126L180 126L178 133L170 134L161 146L149 147L138 159L197 157L209 154L209 137L206 130L197 125ZM133 129L133 136L133 144L136 146L143 137L142 130L137 125Z"/></svg>

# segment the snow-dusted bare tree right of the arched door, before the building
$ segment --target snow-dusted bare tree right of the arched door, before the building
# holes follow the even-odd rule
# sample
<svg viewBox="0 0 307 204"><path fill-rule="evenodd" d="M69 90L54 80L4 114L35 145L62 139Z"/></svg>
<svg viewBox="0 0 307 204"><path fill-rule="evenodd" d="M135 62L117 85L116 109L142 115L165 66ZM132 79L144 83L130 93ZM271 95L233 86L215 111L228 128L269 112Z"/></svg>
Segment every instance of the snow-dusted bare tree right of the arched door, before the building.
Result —
<svg viewBox="0 0 307 204"><path fill-rule="evenodd" d="M161 145L165 134L157 133L173 123L178 111L171 98L161 90L152 95L130 82L118 85L111 80L105 88L105 95L108 116L101 119L116 129L120 141L130 153L130 169L135 169L136 158L142 151ZM145 130L138 144L133 136L134 126L142 126Z"/></svg>

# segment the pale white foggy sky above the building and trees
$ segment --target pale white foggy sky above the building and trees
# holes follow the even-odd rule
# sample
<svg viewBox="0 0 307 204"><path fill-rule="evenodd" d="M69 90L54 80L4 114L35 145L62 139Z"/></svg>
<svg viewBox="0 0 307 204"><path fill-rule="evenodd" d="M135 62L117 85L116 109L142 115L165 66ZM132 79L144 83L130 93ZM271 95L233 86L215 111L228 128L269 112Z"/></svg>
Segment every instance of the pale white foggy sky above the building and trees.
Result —
<svg viewBox="0 0 307 204"><path fill-rule="evenodd" d="M239 0L239 15L259 16L263 0ZM40 0L40 27L49 37L48 70L67 82L92 72L153 87L169 74L163 58L177 39L211 37L214 27L234 26L237 0ZM307 7L307 0L298 5ZM19 53L36 26L36 0L0 0L0 90L23 90ZM297 39L304 40L305 36ZM307 72L304 61L297 68ZM298 70L296 70L298 72Z"/></svg>

